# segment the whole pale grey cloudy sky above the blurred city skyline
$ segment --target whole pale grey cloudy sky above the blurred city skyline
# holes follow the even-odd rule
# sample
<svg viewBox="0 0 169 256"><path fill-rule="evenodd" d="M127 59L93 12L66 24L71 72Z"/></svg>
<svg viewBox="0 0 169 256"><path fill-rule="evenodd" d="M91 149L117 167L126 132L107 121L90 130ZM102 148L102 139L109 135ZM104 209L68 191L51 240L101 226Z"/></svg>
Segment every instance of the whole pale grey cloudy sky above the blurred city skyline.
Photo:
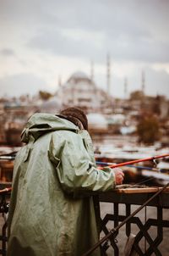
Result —
<svg viewBox="0 0 169 256"><path fill-rule="evenodd" d="M56 92L76 71L111 93L141 89L169 98L168 0L0 0L0 97Z"/></svg>

